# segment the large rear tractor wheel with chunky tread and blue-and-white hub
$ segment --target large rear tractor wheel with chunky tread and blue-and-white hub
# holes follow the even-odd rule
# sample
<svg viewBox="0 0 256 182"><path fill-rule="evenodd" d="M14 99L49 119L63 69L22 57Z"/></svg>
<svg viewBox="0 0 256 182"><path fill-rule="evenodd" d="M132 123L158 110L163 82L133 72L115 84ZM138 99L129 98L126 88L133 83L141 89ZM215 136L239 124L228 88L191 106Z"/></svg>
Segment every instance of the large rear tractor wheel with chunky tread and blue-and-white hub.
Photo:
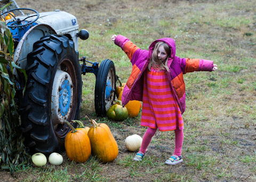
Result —
<svg viewBox="0 0 256 182"><path fill-rule="evenodd" d="M62 121L79 119L82 102L81 66L74 42L56 34L42 37L27 55L26 72L26 91L20 94L25 145L30 153L61 152L70 131Z"/></svg>

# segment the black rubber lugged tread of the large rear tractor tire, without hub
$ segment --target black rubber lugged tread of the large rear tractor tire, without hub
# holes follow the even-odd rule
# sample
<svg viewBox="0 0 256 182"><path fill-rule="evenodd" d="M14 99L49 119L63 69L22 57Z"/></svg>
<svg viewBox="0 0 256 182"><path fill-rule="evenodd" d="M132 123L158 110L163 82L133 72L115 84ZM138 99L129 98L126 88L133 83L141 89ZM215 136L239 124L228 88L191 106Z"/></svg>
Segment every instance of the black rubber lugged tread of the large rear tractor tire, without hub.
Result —
<svg viewBox="0 0 256 182"><path fill-rule="evenodd" d="M21 130L26 138L25 144L30 148L30 152L52 153L61 152L64 149L64 139L59 138L51 124L51 103L47 101L51 93L52 72L57 69L60 54L63 51L71 51L75 60L77 58L74 50L74 43L71 50L70 40L65 36L50 35L41 38L33 45L33 51L27 55L28 75L27 89L24 96L20 92L20 116ZM54 48L55 46L55 48ZM66 52L65 52L66 53ZM75 62L75 61L74 61ZM77 59L77 67L79 62ZM81 74L81 73L80 73ZM78 77L79 79L79 77ZM78 82L78 81L77 81ZM81 78L82 82L82 78ZM82 84L78 84L82 94ZM79 96L78 96L79 98ZM77 106L81 99L78 99ZM50 109L49 109L50 108ZM77 107L74 119L79 118Z"/></svg>

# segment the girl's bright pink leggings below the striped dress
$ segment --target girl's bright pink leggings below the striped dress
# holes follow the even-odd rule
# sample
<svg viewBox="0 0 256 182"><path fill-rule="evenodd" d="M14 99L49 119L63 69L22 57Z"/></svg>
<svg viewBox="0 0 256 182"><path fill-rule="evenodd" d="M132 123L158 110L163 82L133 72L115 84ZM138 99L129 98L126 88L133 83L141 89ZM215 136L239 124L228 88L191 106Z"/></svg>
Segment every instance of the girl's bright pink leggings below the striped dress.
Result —
<svg viewBox="0 0 256 182"><path fill-rule="evenodd" d="M142 144L140 148L140 152L145 153L146 149L151 142L151 138L155 135L157 128L150 128L148 127L145 135L142 138ZM181 155L181 148L182 148L182 143L183 143L183 130L180 129L175 129L175 150L174 153L175 155L180 156Z"/></svg>

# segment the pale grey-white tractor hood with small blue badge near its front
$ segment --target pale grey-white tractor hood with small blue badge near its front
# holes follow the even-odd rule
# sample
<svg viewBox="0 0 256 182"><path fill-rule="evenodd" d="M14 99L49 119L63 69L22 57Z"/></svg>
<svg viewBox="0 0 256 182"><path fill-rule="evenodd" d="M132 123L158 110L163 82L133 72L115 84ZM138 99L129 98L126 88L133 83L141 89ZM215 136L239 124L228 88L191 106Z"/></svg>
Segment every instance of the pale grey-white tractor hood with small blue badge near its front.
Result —
<svg viewBox="0 0 256 182"><path fill-rule="evenodd" d="M39 14L40 16L36 23L49 25L57 32L57 34L78 31L78 23L74 15L59 10Z"/></svg>

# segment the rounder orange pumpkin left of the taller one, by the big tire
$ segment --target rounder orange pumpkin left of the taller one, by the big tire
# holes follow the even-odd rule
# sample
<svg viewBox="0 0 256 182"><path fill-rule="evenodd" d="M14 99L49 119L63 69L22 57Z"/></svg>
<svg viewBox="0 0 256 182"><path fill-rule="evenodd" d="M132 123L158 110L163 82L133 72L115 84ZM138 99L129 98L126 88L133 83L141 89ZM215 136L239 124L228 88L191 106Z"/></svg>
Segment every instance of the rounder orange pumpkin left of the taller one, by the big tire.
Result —
<svg viewBox="0 0 256 182"><path fill-rule="evenodd" d="M68 159L76 162L85 162L91 155L91 143L89 137L82 129L75 129L67 120L65 122L71 131L65 138L65 149Z"/></svg>

